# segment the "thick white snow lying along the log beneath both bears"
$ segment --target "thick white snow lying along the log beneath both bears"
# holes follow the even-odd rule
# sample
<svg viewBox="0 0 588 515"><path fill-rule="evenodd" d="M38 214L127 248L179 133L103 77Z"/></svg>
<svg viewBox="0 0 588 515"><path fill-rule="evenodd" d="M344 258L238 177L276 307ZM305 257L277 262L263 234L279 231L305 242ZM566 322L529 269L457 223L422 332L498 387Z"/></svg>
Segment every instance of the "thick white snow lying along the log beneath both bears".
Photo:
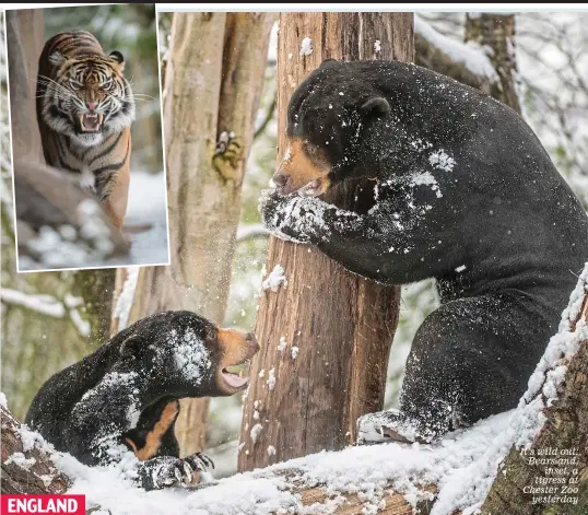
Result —
<svg viewBox="0 0 588 515"><path fill-rule="evenodd" d="M437 484L432 515L450 515L455 510L471 514L485 499L498 465L513 445L517 448L528 445L542 428L543 409L557 397L567 360L577 351L579 342L588 338L586 320L574 328L571 323L577 318L588 292L587 280L588 264L562 315L560 330L551 338L518 408L449 433L434 444L388 443L321 452L225 478L197 490L145 492L130 482L120 466L90 468L59 453L55 455L56 465L74 479L70 493L86 495L86 507L99 505L116 515L301 513L299 494L292 493L280 476L285 469L296 469L297 479L308 487L327 484L327 491L332 494L325 505L304 513L333 513L344 502L340 493L357 493L365 512L376 513L390 485L414 504L431 495L423 492L422 487ZM44 445L38 437L32 438L26 428L23 432L27 441Z"/></svg>

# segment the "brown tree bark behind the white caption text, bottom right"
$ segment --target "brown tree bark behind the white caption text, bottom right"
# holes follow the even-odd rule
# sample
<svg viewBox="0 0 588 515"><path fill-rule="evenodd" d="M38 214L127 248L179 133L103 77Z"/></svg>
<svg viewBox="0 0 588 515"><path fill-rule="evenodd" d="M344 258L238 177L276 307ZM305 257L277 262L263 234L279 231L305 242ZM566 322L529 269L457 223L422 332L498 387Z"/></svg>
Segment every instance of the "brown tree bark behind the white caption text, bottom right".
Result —
<svg viewBox="0 0 588 515"><path fill-rule="evenodd" d="M588 286L586 288L588 292ZM579 319L588 323L588 293ZM576 323L573 321L573 329ZM580 515L583 506L588 506L588 339L580 344L578 352L566 363L567 371L563 391L557 400L544 410L545 423L526 453L510 449L503 460L492 489L482 506L483 515L508 513L513 515ZM542 394L539 394L542 395ZM554 468L567 468L566 473L545 473L544 466L530 465L529 457L554 457L539 455L541 449L577 449L577 464ZM568 496L578 499L573 503L533 502L533 498L545 498L525 493L526 487L540 487L537 478L562 478L572 491ZM553 487L549 484L548 487ZM553 493L566 494L561 485ZM576 489L573 491L573 489Z"/></svg>

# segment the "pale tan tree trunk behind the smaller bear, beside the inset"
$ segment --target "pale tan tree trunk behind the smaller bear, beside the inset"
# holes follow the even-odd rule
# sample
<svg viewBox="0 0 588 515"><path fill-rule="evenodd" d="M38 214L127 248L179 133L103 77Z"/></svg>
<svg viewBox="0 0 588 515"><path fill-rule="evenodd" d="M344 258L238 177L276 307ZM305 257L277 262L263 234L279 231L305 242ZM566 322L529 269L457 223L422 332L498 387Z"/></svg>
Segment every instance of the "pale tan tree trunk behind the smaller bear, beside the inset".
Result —
<svg viewBox="0 0 588 515"><path fill-rule="evenodd" d="M172 265L141 269L129 321L162 309L223 320L272 24L270 13L174 14L164 89ZM216 152L223 132L238 147ZM208 399L181 401L183 455L202 449L207 413Z"/></svg>

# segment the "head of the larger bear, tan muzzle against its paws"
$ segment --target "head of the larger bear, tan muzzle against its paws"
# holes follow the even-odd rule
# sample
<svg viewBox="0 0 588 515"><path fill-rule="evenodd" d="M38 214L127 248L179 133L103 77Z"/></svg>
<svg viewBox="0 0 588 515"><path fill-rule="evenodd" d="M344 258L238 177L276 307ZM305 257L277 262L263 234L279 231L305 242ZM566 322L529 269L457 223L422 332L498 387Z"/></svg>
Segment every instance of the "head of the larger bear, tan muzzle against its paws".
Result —
<svg viewBox="0 0 588 515"><path fill-rule="evenodd" d="M319 196L346 178L365 175L358 161L365 132L390 110L388 101L349 63L328 59L293 93L286 149L272 186L282 195Z"/></svg>

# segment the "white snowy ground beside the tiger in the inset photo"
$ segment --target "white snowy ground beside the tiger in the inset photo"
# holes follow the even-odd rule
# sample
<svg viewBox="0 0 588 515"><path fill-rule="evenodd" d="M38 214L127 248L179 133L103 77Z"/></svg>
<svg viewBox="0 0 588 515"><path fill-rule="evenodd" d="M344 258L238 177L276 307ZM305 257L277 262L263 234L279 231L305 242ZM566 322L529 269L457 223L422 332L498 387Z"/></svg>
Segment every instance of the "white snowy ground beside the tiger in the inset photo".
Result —
<svg viewBox="0 0 588 515"><path fill-rule="evenodd" d="M167 265L165 174L132 172L129 188L129 204L125 227L152 224L149 231L131 234L130 257L111 260L108 265Z"/></svg>

